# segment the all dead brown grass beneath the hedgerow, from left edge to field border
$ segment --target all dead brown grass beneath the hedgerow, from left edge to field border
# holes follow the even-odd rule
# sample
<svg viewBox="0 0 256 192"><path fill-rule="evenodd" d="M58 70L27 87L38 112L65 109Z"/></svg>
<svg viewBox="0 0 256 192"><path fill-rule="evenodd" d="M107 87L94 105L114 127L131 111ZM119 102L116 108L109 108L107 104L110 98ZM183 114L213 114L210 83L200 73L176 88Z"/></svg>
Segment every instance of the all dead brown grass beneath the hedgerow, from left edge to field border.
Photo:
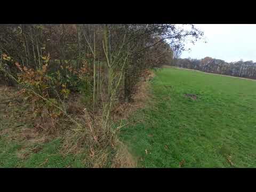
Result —
<svg viewBox="0 0 256 192"><path fill-rule="evenodd" d="M149 81L154 74L143 71L142 77L145 81L139 82L137 91L132 95L133 102L120 103L113 111L114 123L127 119L134 111L145 107L145 101L150 97ZM17 90L13 87L0 87L0 102L9 98L17 98ZM27 106L28 107L25 107ZM67 113L82 125L82 129L77 127L69 119L61 118L59 122L51 122L45 114L43 119L35 119L31 115L31 108L26 101L11 101L7 104L0 103L0 120L4 129L0 130L0 135L5 135L7 139L22 141L27 143L25 147L18 151L18 157L25 159L31 152L37 153L39 148L31 148L38 143L45 143L61 136L63 145L61 154L79 155L87 154L84 162L89 167L106 167L110 162L110 167L136 167L137 161L129 153L127 147L118 140L118 132L112 136L106 136L102 129L101 116L91 114L85 109L79 95L73 95L66 106ZM38 122L37 122L38 121ZM0 122L1 124L1 122ZM47 127L56 129L47 129ZM8 126L8 128L6 128ZM1 128L1 127L0 127ZM52 131L45 131L52 130Z"/></svg>

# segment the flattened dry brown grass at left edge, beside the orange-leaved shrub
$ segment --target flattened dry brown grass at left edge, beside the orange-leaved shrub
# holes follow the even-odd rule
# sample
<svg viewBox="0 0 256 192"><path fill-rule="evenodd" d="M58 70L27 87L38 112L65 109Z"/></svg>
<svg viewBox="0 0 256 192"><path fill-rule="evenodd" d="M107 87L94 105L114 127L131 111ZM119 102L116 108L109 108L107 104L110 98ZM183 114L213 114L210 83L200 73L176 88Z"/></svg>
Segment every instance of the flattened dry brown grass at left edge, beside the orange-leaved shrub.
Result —
<svg viewBox="0 0 256 192"><path fill-rule="evenodd" d="M33 129L29 103L17 101L19 95L14 87L0 86L0 135L5 135L9 140L26 141L27 143L43 143L51 138L45 133ZM3 103L6 101L7 103Z"/></svg>

